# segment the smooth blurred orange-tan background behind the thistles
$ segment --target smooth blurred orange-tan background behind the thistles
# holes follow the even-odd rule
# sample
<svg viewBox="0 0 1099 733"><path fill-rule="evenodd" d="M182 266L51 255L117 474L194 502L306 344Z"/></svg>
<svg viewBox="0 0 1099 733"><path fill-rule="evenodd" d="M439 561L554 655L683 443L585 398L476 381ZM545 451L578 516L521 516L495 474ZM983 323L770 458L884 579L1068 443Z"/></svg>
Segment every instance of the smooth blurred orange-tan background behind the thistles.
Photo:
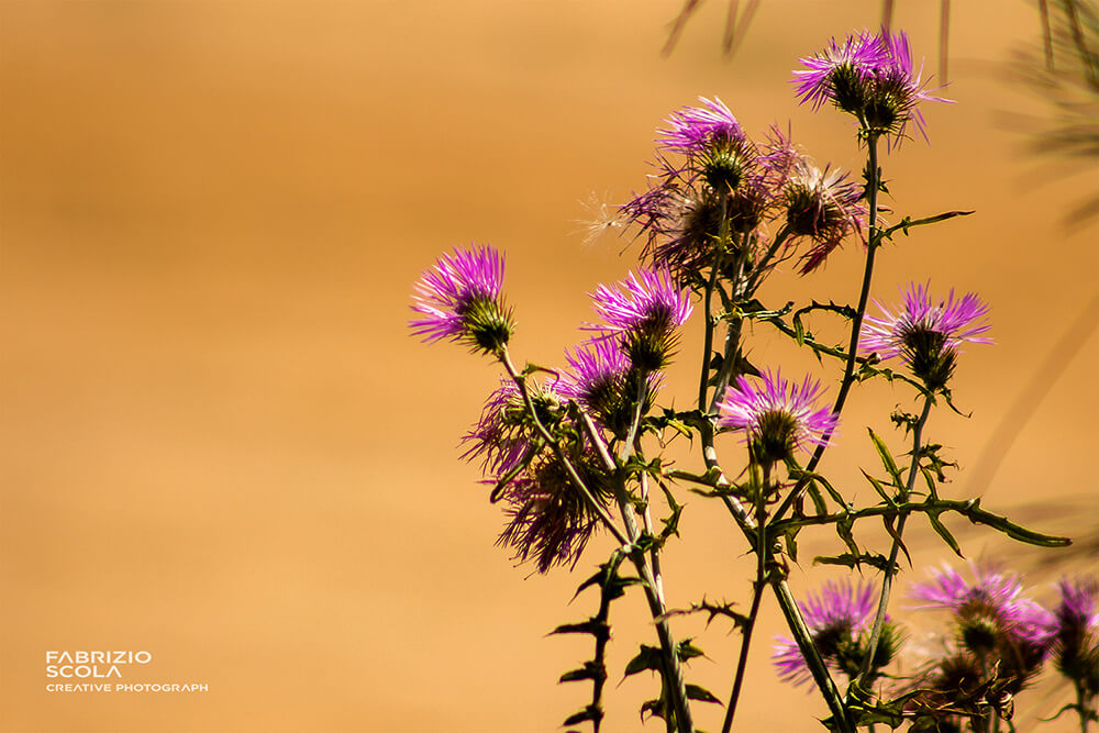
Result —
<svg viewBox="0 0 1099 733"><path fill-rule="evenodd" d="M964 469L952 492L1043 531L1094 532L1094 318L1042 369L1096 296L1096 229L1062 222L1099 177L1047 169L1003 123L1045 109L1000 73L1011 48L1037 43L1034 9L954 5L945 95L959 103L928 109L931 145L906 142L882 165L898 218L977 213L887 247L874 293L931 278L991 304L998 345L968 349L955 384L973 417L941 411L930 429ZM678 9L0 2L0 730L562 730L590 688L556 679L590 648L545 634L595 608L566 603L610 545L547 577L493 547L499 508L457 440L497 371L417 343L408 306L440 253L491 242L508 253L517 355L559 362L590 319L585 293L637 254L612 235L585 246L581 202L644 187L653 131L699 95L750 131L790 121L820 163L861 168L847 119L799 108L787 80L830 36L875 25L878 3L767 0L732 59L717 1L662 56ZM893 22L933 70L937 3L900 2ZM780 274L765 295L853 301L858 254L848 245L808 280ZM689 399L693 331L664 403ZM813 368L769 333L753 338L759 363ZM888 412L908 400L874 385L850 402L824 468L863 499L862 425L902 452ZM718 506L684 498L671 604L704 592L746 606L736 533ZM914 524L917 568L946 559ZM1032 563L990 532L961 536L968 556ZM828 576L810 558L835 544L809 542L796 592ZM1054 577L1033 576L1039 597ZM822 730L819 697L774 679L780 629L764 608L737 730ZM619 679L651 626L640 596L613 614L606 730L642 730L656 682ZM728 696L736 638L700 619L676 629L704 634L691 679ZM146 649L124 681L209 691L47 692L48 649ZM1032 695L1046 714L1068 701L1063 686ZM721 710L699 707L699 725L719 728Z"/></svg>

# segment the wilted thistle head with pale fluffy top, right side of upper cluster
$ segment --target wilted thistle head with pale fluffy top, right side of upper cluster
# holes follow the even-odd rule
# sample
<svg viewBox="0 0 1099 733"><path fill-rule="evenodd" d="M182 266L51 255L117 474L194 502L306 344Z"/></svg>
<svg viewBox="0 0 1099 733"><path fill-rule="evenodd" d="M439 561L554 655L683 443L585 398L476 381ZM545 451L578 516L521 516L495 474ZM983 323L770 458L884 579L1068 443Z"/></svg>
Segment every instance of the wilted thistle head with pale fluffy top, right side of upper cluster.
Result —
<svg viewBox="0 0 1099 733"><path fill-rule="evenodd" d="M868 213L862 198L862 187L842 170L821 170L806 160L793 168L784 191L786 226L813 242L801 256L802 275L823 265L848 234L859 232Z"/></svg>

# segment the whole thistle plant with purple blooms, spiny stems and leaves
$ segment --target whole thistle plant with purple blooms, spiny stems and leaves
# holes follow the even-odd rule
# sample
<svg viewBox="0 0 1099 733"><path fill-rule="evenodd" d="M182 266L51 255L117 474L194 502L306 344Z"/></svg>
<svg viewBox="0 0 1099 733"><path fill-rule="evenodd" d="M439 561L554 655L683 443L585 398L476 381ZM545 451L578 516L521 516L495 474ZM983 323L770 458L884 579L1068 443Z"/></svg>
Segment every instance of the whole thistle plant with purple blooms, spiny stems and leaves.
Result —
<svg viewBox="0 0 1099 733"><path fill-rule="evenodd" d="M931 284L909 284L899 304L875 301L876 312L868 313L875 259L887 242L972 213L889 221L879 204L887 193L881 148L900 154L911 132L926 137L921 107L947 100L929 88L903 33L833 40L801 63L792 81L802 103L853 119L854 144L866 157L862 181L814 163L778 125L753 137L718 97L671 112L656 132L657 174L620 209L641 241L641 264L618 284L595 285L595 319L578 324L586 338L566 345L557 367L515 366L517 322L496 249L456 249L415 285L413 332L464 344L503 373L463 438L464 457L479 463L490 500L503 506L499 543L539 573L598 567L579 587L599 591L592 614L554 630L590 635L595 646L591 659L560 678L591 685L590 701L564 724L602 730L610 611L619 599L641 596L655 638L640 644L624 674L648 670L659 681L641 704L642 717L690 733L699 703L719 703L721 730L732 730L769 595L788 628L773 665L781 679L815 689L829 709L822 721L829 730L999 731L1011 725L1015 698L1053 659L1076 691L1066 710L1077 712L1087 731L1099 697L1094 580L1066 579L1059 606L1048 610L1030 600L1022 578L1009 570L978 565L973 580L935 570L930 581L911 586L910 600L948 615L943 654L908 676L895 664L908 638L891 600L901 555L908 556L910 519L926 521L958 555L944 514L1031 545L1058 547L1068 540L1022 527L984 509L979 498L948 496L955 464L928 436L932 412L954 408L963 349L992 343L989 306L976 293L943 296ZM903 249L889 254L903 256ZM773 284L768 292L778 291L788 278L812 277L837 256L862 257L851 292L828 303L761 300L765 282ZM848 296L854 304L843 304ZM818 338L813 327L822 321L839 322L844 340ZM666 369L682 358L688 327L701 330L702 353L685 403L671 395L678 386ZM751 338L761 330L808 349L824 380L791 377L789 365L753 363ZM863 433L843 419L855 388L877 379L910 390L915 404L911 413L901 408L888 415L893 433L880 426ZM677 436L698 449L696 466L665 458ZM858 481L820 470L826 452L864 436L880 466L862 469ZM876 499L856 503L856 485L869 485ZM737 602L679 598L665 577L665 553L684 541L685 491L703 498L690 511L728 514L754 556L754 577ZM887 542L865 544L863 530L879 523ZM813 564L861 576L831 580L799 602L789 567L799 562L801 532L822 527L835 533L839 552ZM720 563L715 573L717 588L730 573ZM677 634L674 624L693 613L728 620L740 632L724 700L689 681L687 663L702 654L700 642Z"/></svg>

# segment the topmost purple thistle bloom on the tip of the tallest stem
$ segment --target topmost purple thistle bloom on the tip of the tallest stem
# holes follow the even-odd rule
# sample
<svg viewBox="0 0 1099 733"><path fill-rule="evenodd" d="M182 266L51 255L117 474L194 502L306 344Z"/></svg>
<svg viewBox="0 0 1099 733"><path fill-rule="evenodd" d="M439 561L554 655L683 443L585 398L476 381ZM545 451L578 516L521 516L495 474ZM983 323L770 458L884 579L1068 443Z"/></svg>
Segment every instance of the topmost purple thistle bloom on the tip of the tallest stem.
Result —
<svg viewBox="0 0 1099 733"><path fill-rule="evenodd" d="M928 93L923 69L915 70L904 32L873 34L864 31L843 43L833 40L821 53L802 58L796 70L798 97L819 109L831 101L855 115L864 130L901 136L912 121L926 137L921 101L950 100Z"/></svg>

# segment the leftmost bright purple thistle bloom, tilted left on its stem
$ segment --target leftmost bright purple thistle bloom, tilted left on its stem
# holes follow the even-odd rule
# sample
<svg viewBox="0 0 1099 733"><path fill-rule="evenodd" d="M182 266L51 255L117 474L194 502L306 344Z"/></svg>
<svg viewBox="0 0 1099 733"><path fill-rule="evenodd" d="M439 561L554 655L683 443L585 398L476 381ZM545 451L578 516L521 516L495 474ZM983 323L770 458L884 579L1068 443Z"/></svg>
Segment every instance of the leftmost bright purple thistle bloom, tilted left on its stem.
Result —
<svg viewBox="0 0 1099 733"><path fill-rule="evenodd" d="M500 295L502 281L503 256L492 247L443 255L414 286L412 310L425 318L409 323L412 333L426 342L466 343L475 351L502 348L515 327Z"/></svg>

